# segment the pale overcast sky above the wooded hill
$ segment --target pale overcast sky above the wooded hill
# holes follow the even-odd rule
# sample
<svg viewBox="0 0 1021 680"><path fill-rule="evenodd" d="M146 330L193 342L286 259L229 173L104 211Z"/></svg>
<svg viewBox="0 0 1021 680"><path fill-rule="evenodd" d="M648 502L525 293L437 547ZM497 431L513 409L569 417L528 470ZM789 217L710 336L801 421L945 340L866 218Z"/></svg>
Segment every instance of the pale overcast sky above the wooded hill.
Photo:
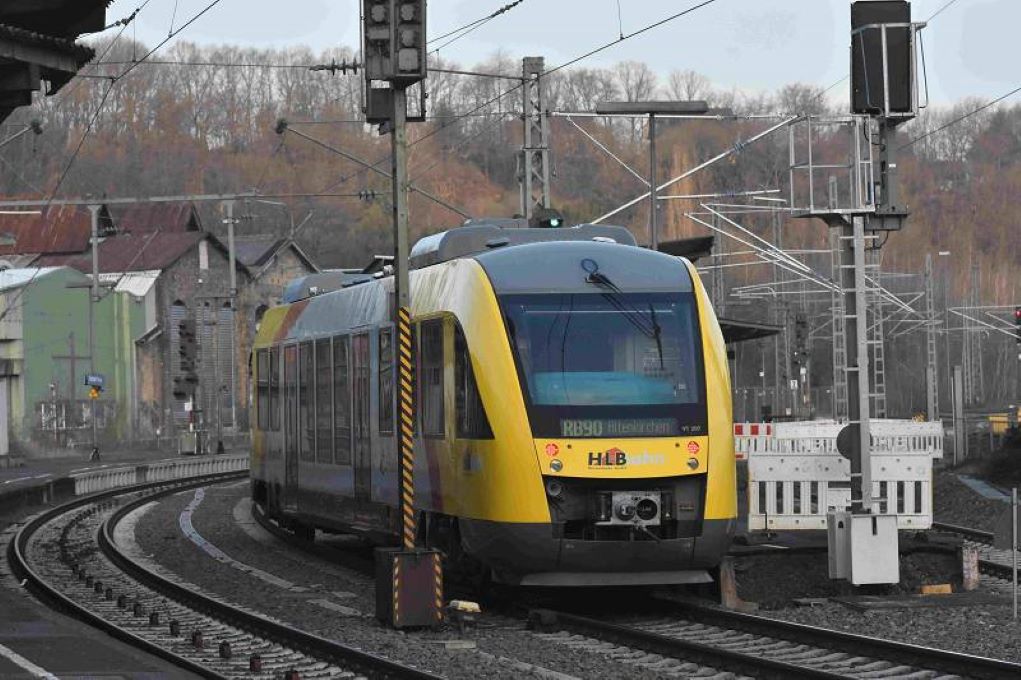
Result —
<svg viewBox="0 0 1021 680"><path fill-rule="evenodd" d="M209 0L150 0L139 14L137 38L154 45ZM429 31L439 36L480 18L509 0L432 0ZM914 0L914 20L927 19L947 0ZM114 0L109 20L141 0ZM463 66L496 50L518 58L546 57L547 67L696 0L525 0L509 12L441 51ZM359 0L223 0L177 40L256 47L307 45L320 50L358 44ZM848 0L717 0L712 5L632 38L583 62L606 66L623 59L647 62L664 78L691 68L714 86L773 90L786 83L829 86L847 70ZM956 0L923 32L929 93L935 103L990 99L1021 85L1021 0ZM846 85L834 96L846 100ZM1021 99L1021 96L1019 96Z"/></svg>

